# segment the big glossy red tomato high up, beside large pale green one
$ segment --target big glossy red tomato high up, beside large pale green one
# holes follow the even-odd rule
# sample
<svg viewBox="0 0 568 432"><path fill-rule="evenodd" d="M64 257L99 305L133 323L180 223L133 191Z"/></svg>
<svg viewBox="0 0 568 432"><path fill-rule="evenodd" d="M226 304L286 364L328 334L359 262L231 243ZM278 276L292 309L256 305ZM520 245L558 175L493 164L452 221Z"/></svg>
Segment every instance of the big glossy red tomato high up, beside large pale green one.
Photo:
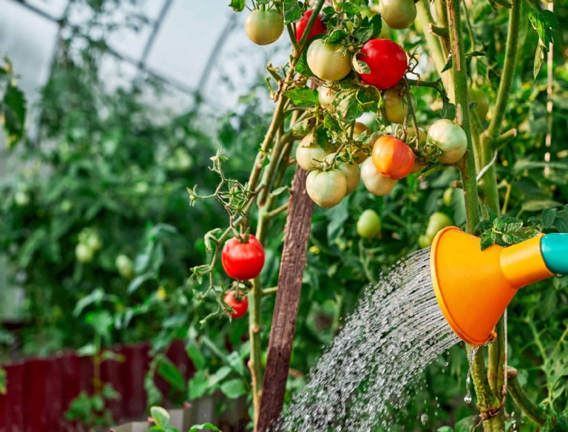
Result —
<svg viewBox="0 0 568 432"><path fill-rule="evenodd" d="M363 45L357 58L371 70L370 73L362 73L361 80L380 90L393 87L403 78L408 67L403 48L389 39L371 39Z"/></svg>

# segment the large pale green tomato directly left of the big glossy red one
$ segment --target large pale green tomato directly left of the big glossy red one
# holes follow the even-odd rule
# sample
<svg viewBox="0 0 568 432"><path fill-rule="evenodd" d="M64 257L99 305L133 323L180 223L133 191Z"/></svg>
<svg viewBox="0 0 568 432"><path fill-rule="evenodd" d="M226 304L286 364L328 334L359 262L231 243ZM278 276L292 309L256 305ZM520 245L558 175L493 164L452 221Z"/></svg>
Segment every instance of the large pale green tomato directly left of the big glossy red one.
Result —
<svg viewBox="0 0 568 432"><path fill-rule="evenodd" d="M307 65L320 80L339 81L351 72L351 54L343 53L339 43L316 39L307 48Z"/></svg>

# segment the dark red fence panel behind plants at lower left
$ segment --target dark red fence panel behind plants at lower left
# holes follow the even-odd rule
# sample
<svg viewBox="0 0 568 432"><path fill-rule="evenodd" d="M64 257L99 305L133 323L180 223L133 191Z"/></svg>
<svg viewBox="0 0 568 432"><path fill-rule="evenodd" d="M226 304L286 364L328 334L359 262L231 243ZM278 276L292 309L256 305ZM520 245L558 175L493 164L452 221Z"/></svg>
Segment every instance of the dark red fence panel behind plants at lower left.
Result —
<svg viewBox="0 0 568 432"><path fill-rule="evenodd" d="M150 367L150 345L121 345L114 352L124 362L106 361L101 367L102 381L121 394L109 404L114 419L136 419L146 411L144 377ZM182 342L175 342L168 357L189 377L194 371ZM71 432L74 424L65 421L70 402L84 391L93 391L91 357L65 352L56 357L29 359L6 369L6 395L0 396L0 432Z"/></svg>

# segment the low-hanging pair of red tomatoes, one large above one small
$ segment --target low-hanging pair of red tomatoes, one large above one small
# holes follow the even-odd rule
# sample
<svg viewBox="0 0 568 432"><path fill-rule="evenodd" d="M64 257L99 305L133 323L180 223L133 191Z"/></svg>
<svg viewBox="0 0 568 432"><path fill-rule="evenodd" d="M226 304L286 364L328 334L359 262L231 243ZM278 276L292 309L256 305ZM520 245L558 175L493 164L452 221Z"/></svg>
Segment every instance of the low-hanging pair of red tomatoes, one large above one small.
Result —
<svg viewBox="0 0 568 432"><path fill-rule="evenodd" d="M221 251L224 271L237 281L248 281L261 274L264 259L264 247L252 234L229 239ZM226 293L224 302L231 308L233 318L241 318L249 309L249 300L239 289Z"/></svg>

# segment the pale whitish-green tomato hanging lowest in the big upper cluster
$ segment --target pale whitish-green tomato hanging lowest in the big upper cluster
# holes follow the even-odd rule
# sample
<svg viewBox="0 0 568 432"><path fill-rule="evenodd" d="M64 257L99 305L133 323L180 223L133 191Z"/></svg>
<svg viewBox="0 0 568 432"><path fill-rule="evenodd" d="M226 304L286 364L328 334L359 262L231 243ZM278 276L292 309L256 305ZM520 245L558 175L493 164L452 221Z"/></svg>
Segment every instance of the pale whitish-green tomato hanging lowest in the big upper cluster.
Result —
<svg viewBox="0 0 568 432"><path fill-rule="evenodd" d="M332 208L342 201L347 193L347 179L338 169L310 171L306 179L307 195L320 207Z"/></svg>

